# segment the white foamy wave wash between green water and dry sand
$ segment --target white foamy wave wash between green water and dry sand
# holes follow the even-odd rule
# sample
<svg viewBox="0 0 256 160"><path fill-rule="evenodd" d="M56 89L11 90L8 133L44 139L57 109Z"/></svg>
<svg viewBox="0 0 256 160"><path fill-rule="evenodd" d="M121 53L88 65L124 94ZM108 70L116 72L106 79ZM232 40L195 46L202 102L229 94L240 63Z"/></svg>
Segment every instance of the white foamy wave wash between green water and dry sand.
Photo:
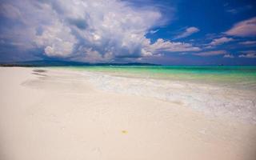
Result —
<svg viewBox="0 0 256 160"><path fill-rule="evenodd" d="M251 90L152 78L126 78L87 71L84 74L101 90L180 102L206 114L226 115L256 123L256 94Z"/></svg>

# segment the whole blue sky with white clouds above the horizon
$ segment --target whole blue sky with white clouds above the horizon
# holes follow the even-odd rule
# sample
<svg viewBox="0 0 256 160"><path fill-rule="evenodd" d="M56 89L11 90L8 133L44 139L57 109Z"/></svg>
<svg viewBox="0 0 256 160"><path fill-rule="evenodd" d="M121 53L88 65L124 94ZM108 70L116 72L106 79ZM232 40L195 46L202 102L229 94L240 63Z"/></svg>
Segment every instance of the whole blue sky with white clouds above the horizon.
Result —
<svg viewBox="0 0 256 160"><path fill-rule="evenodd" d="M254 0L0 0L0 62L256 65Z"/></svg>

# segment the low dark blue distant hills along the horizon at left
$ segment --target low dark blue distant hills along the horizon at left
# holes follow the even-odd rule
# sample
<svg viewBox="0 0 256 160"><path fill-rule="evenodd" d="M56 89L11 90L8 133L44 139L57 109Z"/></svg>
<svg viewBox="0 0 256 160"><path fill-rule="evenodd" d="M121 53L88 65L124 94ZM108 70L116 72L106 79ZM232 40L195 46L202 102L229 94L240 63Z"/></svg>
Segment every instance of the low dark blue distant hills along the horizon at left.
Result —
<svg viewBox="0 0 256 160"><path fill-rule="evenodd" d="M159 66L151 63L88 63L88 62L70 62L70 61L26 61L26 62L10 62L1 63L0 66Z"/></svg>

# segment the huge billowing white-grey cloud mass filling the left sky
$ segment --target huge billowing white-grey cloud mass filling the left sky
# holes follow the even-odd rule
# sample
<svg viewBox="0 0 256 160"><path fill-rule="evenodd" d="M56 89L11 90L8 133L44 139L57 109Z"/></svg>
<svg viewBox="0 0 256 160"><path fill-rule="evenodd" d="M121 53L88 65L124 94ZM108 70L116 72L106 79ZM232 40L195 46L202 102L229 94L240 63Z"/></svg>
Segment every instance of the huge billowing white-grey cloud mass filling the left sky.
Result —
<svg viewBox="0 0 256 160"><path fill-rule="evenodd" d="M166 24L155 6L117 0L6 0L1 9L8 23L0 26L0 38L19 44L17 50L42 50L47 57L109 62L200 50L190 43L146 38ZM189 32L195 32L193 27Z"/></svg>

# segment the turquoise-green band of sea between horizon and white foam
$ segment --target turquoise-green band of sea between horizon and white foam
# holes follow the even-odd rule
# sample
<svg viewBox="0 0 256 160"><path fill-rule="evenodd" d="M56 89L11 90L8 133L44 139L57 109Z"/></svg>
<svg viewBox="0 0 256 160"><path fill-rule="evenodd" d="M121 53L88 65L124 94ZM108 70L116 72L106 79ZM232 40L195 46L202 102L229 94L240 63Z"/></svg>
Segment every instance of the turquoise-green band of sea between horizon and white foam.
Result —
<svg viewBox="0 0 256 160"><path fill-rule="evenodd" d="M69 68L126 77L160 78L256 89L256 66L70 66Z"/></svg>

